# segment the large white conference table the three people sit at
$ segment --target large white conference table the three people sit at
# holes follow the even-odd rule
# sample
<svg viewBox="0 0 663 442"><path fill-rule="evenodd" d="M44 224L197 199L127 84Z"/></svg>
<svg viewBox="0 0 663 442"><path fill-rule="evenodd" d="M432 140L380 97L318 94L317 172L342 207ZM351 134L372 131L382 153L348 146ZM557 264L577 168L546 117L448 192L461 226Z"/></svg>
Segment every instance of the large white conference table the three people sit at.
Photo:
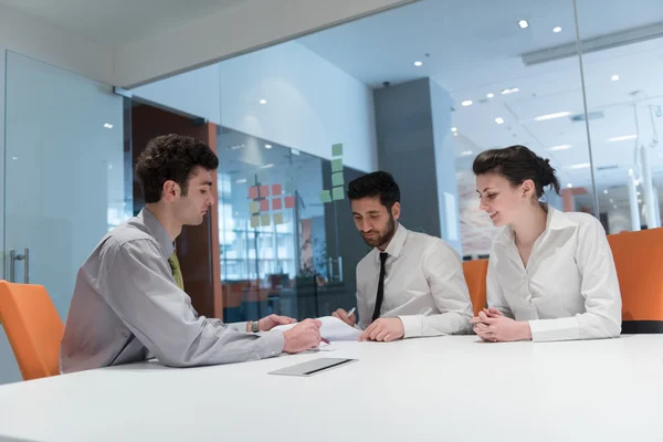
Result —
<svg viewBox="0 0 663 442"><path fill-rule="evenodd" d="M137 364L0 387L0 440L663 440L663 335L485 344L445 336L170 369ZM269 371L359 361L313 377Z"/></svg>

